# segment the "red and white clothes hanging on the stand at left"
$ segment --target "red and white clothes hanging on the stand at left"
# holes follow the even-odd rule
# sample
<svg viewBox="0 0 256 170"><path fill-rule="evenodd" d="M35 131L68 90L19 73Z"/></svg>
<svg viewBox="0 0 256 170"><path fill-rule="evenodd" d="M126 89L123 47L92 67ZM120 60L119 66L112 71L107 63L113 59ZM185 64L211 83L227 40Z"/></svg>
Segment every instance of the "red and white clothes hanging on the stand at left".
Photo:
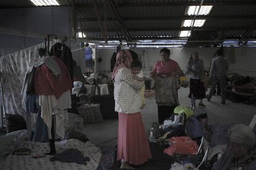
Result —
<svg viewBox="0 0 256 170"><path fill-rule="evenodd" d="M36 95L39 95L41 118L48 127L49 139L53 137L50 130L53 121L56 134L62 138L65 135L64 124L67 121L67 109L71 108L70 90L72 89L72 81L66 65L57 57L53 59L52 61L56 62L61 70L61 76L54 76L53 71L43 63L36 68L34 79Z"/></svg>

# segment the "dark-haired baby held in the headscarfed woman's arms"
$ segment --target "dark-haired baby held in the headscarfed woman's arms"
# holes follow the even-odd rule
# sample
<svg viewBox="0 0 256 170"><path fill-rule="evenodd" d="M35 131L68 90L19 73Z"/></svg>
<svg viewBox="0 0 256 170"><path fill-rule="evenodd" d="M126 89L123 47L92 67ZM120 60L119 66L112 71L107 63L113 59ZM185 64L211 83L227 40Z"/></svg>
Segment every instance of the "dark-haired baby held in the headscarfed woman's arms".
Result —
<svg viewBox="0 0 256 170"><path fill-rule="evenodd" d="M144 81L144 77L143 77L143 71L142 71L142 63L140 63L139 60L134 60L132 61L132 63L130 64L130 69L132 70L132 73L134 74L134 79L136 79L137 81ZM142 99L142 106L140 107L141 109L143 109L146 105L146 99L144 96L144 92L145 92L145 85L140 89L140 97Z"/></svg>

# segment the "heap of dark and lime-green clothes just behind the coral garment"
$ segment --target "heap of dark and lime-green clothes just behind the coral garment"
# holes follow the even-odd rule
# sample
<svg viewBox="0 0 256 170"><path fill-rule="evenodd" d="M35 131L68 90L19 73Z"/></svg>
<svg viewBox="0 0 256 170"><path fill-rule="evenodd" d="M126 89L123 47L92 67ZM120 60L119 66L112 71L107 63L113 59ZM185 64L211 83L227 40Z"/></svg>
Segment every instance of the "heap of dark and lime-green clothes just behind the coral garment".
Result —
<svg viewBox="0 0 256 170"><path fill-rule="evenodd" d="M167 139L168 144L170 140L183 140L182 138L185 137L186 140L193 139L195 144L200 144L200 139L205 135L205 126L207 126L207 113L194 116L194 111L190 108L177 106L171 118L166 119L163 124L152 123L150 138L158 139L157 142L160 143L164 143Z"/></svg>

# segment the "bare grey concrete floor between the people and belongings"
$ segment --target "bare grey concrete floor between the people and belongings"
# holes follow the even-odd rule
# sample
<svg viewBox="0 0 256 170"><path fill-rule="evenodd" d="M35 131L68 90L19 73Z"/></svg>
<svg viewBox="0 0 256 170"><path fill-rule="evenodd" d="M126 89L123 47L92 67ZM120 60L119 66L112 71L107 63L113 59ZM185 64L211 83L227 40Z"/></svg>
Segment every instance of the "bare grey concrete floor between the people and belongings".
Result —
<svg viewBox="0 0 256 170"><path fill-rule="evenodd" d="M190 99L187 97L189 94L189 88L181 87L178 92L180 104L185 107L189 107ZM204 99L203 103L205 103L207 107L196 107L195 114L207 113L209 124L242 123L249 125L251 119L256 114L256 107L253 105L233 103L229 100L226 101L226 105L222 105L221 97L218 95L213 96L211 102ZM145 125L145 131L148 131L152 122L158 121L155 99L147 99L146 107L142 110L142 117ZM87 135L92 144L99 147L113 147L117 144L117 127L117 119L106 119L100 124L85 124L85 127L83 127L83 133Z"/></svg>

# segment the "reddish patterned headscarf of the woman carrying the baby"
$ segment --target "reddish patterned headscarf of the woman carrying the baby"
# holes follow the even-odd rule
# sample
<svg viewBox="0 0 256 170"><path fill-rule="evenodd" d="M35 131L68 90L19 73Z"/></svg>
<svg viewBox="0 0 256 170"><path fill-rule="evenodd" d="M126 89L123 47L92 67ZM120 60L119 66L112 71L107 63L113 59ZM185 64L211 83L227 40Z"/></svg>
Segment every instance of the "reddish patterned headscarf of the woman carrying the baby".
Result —
<svg viewBox="0 0 256 170"><path fill-rule="evenodd" d="M132 63L132 55L130 54L130 52L127 50L119 51L116 54L116 64L114 65L112 79L116 77L116 74L120 68L130 68L130 63Z"/></svg>

